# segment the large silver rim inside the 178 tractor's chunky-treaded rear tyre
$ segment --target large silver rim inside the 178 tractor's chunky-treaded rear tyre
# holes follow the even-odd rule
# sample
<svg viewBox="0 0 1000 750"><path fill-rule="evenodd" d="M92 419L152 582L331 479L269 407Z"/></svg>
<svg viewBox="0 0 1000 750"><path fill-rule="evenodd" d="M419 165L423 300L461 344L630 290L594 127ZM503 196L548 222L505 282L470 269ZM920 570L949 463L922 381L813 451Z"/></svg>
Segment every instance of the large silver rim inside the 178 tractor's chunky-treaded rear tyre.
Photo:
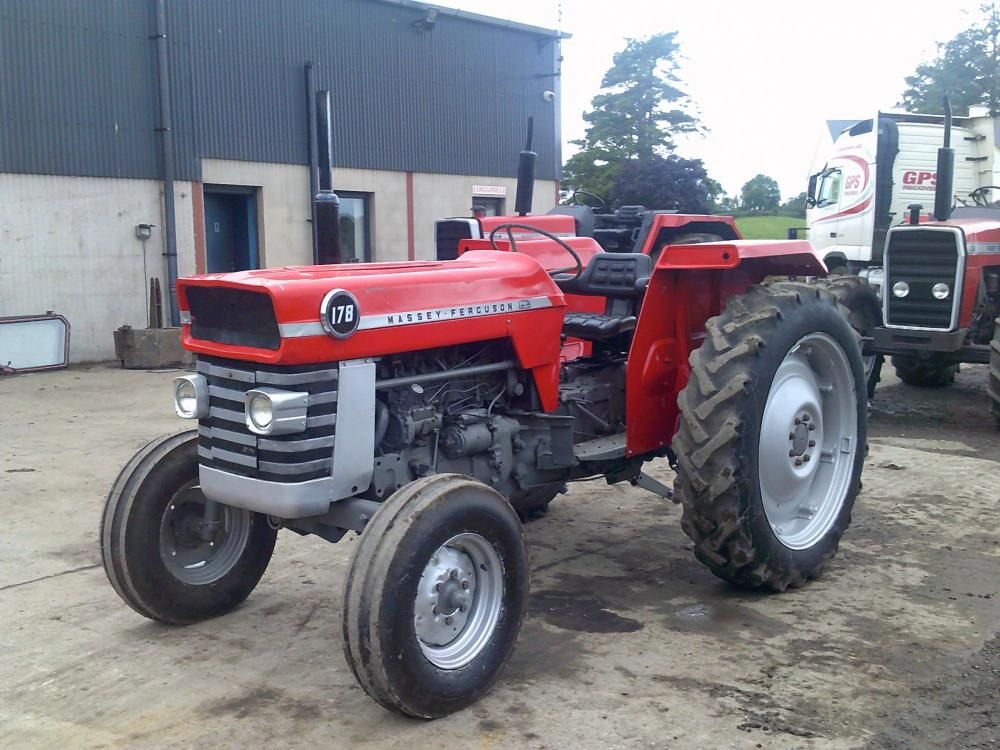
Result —
<svg viewBox="0 0 1000 750"><path fill-rule="evenodd" d="M801 338L771 383L758 459L764 513L790 549L815 545L840 515L858 449L857 408L840 344L825 333Z"/></svg>

